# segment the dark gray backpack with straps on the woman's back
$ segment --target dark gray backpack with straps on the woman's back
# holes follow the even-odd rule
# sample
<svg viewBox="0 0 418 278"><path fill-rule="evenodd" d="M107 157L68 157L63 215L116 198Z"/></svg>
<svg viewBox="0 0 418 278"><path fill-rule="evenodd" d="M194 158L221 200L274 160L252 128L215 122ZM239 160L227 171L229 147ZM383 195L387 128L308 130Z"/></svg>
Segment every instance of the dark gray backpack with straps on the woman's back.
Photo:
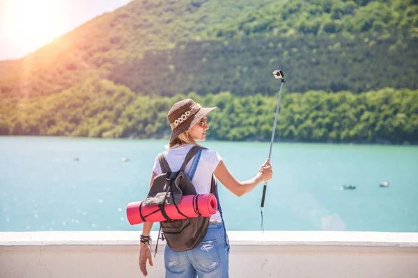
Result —
<svg viewBox="0 0 418 278"><path fill-rule="evenodd" d="M208 217L200 216L199 211L196 211L199 216L196 218L186 218L183 220L171 220L165 212L164 206L173 204L176 206L178 213L185 216L178 209L178 204L183 195L197 195L196 189L193 186L192 179L194 171L199 163L201 150L206 149L201 146L194 146L189 150L183 165L178 172L171 172L169 164L167 163L164 153L158 155L162 174L157 175L150 188L148 196L144 201L144 206L158 205L158 210L161 211L167 221L160 222L160 232L163 232L162 239L167 240L167 245L173 251L187 251L192 250L199 245L208 231L209 219ZM192 162L191 173L188 177L185 173L185 166L194 157ZM212 183L210 193L215 194L216 182L212 174ZM154 211L157 212L157 211ZM142 216L142 215L141 215ZM158 236L160 239L160 235ZM157 241L158 246L158 241ZM155 247L155 253L157 247Z"/></svg>

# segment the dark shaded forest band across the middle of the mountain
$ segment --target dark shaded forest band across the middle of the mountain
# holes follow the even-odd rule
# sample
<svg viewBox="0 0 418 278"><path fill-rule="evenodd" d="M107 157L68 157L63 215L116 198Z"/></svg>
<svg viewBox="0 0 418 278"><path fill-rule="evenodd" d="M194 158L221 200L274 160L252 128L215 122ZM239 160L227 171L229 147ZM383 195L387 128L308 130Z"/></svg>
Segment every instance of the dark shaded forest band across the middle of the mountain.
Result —
<svg viewBox="0 0 418 278"><path fill-rule="evenodd" d="M114 67L109 79L144 95L274 95L272 77L280 67L287 92L364 92L379 88L418 89L418 40L386 40L306 35L287 38L233 38L185 42L174 49L146 51Z"/></svg>

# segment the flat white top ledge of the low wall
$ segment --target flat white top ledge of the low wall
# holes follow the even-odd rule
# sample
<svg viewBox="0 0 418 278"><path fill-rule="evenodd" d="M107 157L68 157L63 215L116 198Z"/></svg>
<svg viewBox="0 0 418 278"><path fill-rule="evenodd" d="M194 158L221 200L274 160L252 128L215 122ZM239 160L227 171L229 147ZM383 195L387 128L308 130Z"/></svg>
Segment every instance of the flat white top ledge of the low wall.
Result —
<svg viewBox="0 0 418 278"><path fill-rule="evenodd" d="M140 231L0 232L0 247L45 245L139 245ZM157 231L152 231L153 243ZM231 245L415 247L418 233L369 231L228 231ZM159 245L165 245L160 240Z"/></svg>

